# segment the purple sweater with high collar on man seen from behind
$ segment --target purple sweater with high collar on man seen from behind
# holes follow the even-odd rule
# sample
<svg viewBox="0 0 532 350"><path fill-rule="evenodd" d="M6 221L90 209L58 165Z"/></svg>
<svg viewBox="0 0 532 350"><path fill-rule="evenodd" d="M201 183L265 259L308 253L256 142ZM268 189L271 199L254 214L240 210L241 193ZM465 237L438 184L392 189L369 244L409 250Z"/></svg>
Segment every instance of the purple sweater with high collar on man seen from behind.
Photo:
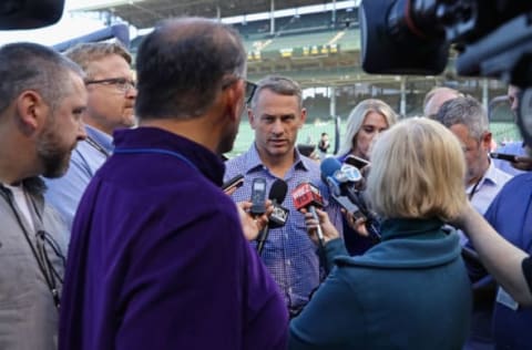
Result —
<svg viewBox="0 0 532 350"><path fill-rule="evenodd" d="M218 157L158 128L114 141L74 219L59 348L284 349L284 301Z"/></svg>

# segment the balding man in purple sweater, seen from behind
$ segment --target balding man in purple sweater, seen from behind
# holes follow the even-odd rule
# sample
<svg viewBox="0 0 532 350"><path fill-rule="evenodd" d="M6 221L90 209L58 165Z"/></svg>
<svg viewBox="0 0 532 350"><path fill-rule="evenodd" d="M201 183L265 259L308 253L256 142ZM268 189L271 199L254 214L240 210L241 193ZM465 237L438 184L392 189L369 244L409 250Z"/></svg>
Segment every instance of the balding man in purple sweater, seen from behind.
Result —
<svg viewBox="0 0 532 350"><path fill-rule="evenodd" d="M140 127L74 219L60 349L283 349L287 312L219 186L253 84L225 24L164 22L136 58Z"/></svg>

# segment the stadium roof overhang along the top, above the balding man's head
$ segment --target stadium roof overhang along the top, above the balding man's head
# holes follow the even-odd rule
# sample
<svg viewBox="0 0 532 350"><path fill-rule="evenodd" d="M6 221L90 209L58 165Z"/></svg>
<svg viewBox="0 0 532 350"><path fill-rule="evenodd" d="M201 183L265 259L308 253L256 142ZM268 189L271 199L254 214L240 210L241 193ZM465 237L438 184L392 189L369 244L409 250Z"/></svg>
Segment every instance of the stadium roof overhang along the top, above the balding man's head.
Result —
<svg viewBox="0 0 532 350"><path fill-rule="evenodd" d="M143 29L171 17L198 16L227 18L249 13L332 3L324 0L109 0L78 6L80 11L109 11L130 24Z"/></svg>

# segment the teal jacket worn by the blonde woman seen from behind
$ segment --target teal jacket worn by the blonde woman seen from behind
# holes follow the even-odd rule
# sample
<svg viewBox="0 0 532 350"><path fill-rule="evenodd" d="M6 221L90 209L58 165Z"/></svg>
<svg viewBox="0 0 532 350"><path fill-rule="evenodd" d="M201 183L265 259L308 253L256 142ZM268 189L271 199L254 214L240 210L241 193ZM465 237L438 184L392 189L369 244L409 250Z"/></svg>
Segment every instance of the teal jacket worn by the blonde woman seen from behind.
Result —
<svg viewBox="0 0 532 350"><path fill-rule="evenodd" d="M441 226L386 220L382 241L357 257L328 243L335 266L290 322L289 349L461 349L471 287L458 235Z"/></svg>

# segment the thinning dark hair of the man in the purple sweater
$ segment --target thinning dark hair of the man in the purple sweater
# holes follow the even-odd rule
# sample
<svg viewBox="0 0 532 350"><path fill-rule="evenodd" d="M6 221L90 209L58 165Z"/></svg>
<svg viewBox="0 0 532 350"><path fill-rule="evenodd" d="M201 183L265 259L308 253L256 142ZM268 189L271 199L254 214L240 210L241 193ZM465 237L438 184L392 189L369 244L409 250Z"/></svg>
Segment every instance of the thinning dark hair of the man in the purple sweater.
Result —
<svg viewBox="0 0 532 350"><path fill-rule="evenodd" d="M246 53L231 27L203 18L164 21L139 48L136 115L200 116L228 79L245 78L245 70Z"/></svg>

